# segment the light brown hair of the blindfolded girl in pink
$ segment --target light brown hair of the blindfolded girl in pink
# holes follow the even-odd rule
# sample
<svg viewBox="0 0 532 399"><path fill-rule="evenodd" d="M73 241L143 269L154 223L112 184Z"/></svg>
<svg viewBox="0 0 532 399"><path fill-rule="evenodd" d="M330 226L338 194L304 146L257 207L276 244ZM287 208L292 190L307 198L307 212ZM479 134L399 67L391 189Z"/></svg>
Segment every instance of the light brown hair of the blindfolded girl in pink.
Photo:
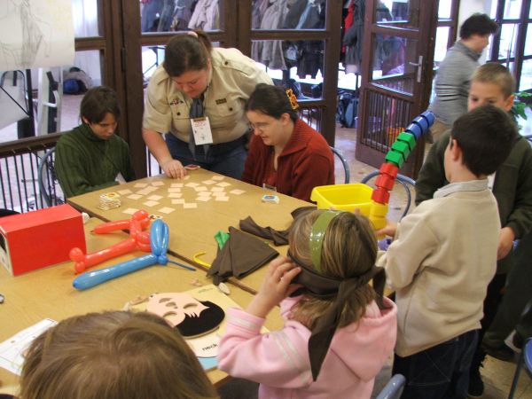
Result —
<svg viewBox="0 0 532 399"><path fill-rule="evenodd" d="M291 254L305 266L314 269L310 258L309 236L312 224L324 210L301 215L293 222L288 238ZM364 274L375 264L377 241L368 219L350 212L335 216L325 229L321 251L321 274L331 278L352 278ZM376 294L369 284L357 289L346 301L339 327L356 323ZM332 299L306 294L292 309L291 317L313 330L319 317L331 306Z"/></svg>

